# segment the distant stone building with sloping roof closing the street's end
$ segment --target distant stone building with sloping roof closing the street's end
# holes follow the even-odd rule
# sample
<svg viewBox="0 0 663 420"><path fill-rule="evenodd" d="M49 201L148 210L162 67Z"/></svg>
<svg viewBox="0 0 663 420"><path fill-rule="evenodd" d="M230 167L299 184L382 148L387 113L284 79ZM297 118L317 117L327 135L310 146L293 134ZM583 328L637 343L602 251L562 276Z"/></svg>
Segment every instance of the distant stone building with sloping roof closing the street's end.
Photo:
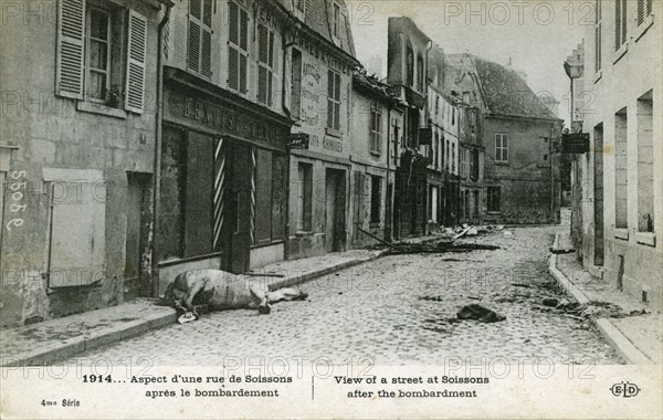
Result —
<svg viewBox="0 0 663 420"><path fill-rule="evenodd" d="M554 143L562 120L513 70L471 54L446 55L445 63L446 88L459 92L482 116L484 220L557 222L560 180Z"/></svg>

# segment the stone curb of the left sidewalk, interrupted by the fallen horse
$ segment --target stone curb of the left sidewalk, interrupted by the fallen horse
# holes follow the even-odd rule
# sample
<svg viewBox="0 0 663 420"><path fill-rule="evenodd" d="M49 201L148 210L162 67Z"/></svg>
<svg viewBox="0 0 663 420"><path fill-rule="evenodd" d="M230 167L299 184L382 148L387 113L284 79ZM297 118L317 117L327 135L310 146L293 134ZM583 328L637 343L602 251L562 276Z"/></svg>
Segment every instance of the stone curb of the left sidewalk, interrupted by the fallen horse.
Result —
<svg viewBox="0 0 663 420"><path fill-rule="evenodd" d="M344 261L337 264L327 265L320 270L312 271L308 273L304 273L301 275L286 277L280 280L275 283L269 285L271 291L293 286L296 284L301 284L304 282L308 282L313 279L320 277L326 274L334 273L336 271L347 269L354 265L359 265L361 263L378 259L382 256L383 251L377 252L375 255L368 258L352 259L349 261ZM201 313L207 313L206 307L200 308ZM152 316L150 318L137 321L134 323L129 323L127 325L123 325L118 328L108 330L104 334L96 335L93 337L81 338L78 340L73 340L60 346L55 346L52 348L46 348L42 350L35 350L27 356L19 356L18 358L9 357L7 360L2 360L2 367L22 367L22 366L44 366L48 364L53 364L55 361L64 360L71 358L72 356L94 349L96 347L109 345L116 342L120 342L123 339L131 338L137 335L147 333L149 330L162 328L167 325L172 325L177 322L177 313L172 312L171 314L164 314L159 316Z"/></svg>

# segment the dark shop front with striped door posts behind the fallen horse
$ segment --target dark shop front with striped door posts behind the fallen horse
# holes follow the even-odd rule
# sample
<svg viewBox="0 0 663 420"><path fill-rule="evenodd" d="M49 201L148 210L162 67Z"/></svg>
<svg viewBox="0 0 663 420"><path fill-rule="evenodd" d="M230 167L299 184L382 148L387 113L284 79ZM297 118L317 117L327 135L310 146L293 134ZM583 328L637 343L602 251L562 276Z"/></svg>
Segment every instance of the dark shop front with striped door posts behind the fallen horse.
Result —
<svg viewBox="0 0 663 420"><path fill-rule="evenodd" d="M160 292L182 271L283 260L290 119L179 70L165 82Z"/></svg>

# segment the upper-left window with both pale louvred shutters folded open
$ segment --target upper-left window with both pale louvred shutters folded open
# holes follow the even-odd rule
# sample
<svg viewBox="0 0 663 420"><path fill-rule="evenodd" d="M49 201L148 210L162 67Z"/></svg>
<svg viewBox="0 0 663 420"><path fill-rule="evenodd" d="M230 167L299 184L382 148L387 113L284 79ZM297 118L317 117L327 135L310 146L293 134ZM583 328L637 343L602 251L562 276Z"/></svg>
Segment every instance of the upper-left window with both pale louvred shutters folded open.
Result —
<svg viewBox="0 0 663 420"><path fill-rule="evenodd" d="M59 2L56 95L114 108L124 97L126 111L143 113L147 20L134 10L124 17L103 1Z"/></svg>

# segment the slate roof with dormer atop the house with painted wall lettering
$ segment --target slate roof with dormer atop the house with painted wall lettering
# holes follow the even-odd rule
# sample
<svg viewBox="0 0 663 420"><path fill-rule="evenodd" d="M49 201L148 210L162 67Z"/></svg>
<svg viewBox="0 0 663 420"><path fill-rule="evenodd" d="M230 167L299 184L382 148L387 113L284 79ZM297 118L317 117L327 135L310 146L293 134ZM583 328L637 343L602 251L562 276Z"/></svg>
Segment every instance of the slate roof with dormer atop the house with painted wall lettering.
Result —
<svg viewBox="0 0 663 420"><path fill-rule="evenodd" d="M294 1L298 0L277 0L287 9L291 14L296 15ZM299 0L304 1L304 0ZM333 36L334 3L340 7L341 24L338 42ZM349 13L345 0L305 0L304 23L314 32L317 32L325 40L343 50L346 54L355 55L355 41L349 22Z"/></svg>

